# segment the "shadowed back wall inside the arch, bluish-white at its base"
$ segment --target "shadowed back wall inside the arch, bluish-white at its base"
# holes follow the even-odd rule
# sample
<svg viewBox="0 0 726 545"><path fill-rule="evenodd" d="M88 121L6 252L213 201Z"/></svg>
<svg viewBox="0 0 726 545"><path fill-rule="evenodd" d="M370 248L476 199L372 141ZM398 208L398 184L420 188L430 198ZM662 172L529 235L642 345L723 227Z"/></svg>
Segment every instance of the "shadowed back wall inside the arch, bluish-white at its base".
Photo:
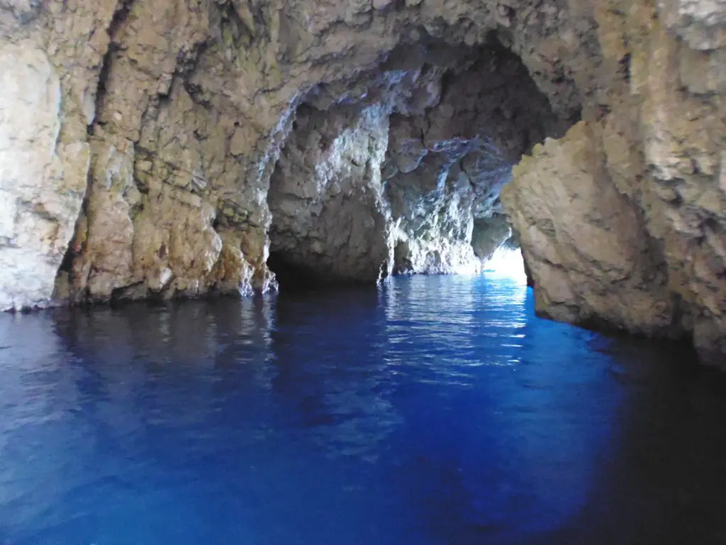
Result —
<svg viewBox="0 0 726 545"><path fill-rule="evenodd" d="M475 230L502 213L499 191L512 164L568 126L521 59L497 41L460 52L444 68L439 78L427 70L430 92L414 94L428 97L424 108L391 116L383 177L399 272L478 270ZM507 238L496 228L476 234L494 236L495 246Z"/></svg>

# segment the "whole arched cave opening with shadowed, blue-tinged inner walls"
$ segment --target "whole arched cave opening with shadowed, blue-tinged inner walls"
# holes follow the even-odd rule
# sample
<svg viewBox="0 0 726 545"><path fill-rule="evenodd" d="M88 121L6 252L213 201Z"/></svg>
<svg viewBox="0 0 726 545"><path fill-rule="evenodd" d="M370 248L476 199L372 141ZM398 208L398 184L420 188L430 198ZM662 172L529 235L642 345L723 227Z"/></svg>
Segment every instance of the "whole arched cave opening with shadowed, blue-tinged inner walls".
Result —
<svg viewBox="0 0 726 545"><path fill-rule="evenodd" d="M269 267L283 289L484 270L518 251L499 202L513 164L571 123L497 39L399 47L295 111L270 180Z"/></svg>

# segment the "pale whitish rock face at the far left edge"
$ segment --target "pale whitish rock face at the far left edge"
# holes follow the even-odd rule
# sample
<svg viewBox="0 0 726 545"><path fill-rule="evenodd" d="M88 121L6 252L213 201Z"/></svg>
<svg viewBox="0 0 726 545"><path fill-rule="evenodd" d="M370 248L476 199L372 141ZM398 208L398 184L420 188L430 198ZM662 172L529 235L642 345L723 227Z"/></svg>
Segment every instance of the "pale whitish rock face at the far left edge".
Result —
<svg viewBox="0 0 726 545"><path fill-rule="evenodd" d="M0 310L44 306L81 209L88 146L59 145L60 81L28 41L0 42Z"/></svg>

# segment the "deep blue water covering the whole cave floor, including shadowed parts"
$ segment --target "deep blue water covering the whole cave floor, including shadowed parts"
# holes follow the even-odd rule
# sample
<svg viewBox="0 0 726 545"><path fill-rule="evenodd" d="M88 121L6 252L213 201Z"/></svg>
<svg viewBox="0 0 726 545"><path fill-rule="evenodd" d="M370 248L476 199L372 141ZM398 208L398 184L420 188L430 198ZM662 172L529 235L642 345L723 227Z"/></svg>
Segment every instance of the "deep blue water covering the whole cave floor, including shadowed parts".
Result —
<svg viewBox="0 0 726 545"><path fill-rule="evenodd" d="M0 315L2 545L726 543L726 387L506 278Z"/></svg>

